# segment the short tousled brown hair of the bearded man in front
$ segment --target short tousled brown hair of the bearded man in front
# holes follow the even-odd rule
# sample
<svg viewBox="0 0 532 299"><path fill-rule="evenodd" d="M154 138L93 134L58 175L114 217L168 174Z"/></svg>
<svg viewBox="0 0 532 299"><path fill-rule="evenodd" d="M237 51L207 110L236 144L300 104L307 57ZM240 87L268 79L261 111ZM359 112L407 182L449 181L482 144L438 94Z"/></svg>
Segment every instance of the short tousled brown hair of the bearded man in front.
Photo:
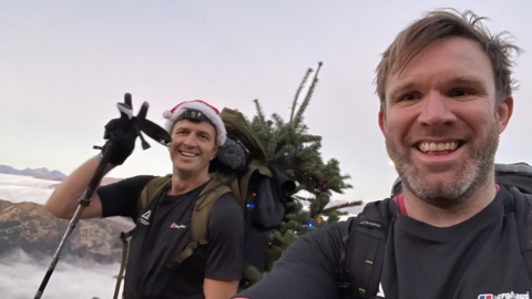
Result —
<svg viewBox="0 0 532 299"><path fill-rule="evenodd" d="M460 13L454 9L438 9L429 11L402 30L393 42L382 53L382 60L377 66L377 94L380 99L380 111L386 110L386 81L396 72L401 72L407 64L433 42L448 38L466 38L478 42L491 61L493 68L497 101L499 105L516 89L512 78L514 65L512 54L519 54L521 49L509 41L507 31L491 33L483 24L484 17L479 17L470 10Z"/></svg>

